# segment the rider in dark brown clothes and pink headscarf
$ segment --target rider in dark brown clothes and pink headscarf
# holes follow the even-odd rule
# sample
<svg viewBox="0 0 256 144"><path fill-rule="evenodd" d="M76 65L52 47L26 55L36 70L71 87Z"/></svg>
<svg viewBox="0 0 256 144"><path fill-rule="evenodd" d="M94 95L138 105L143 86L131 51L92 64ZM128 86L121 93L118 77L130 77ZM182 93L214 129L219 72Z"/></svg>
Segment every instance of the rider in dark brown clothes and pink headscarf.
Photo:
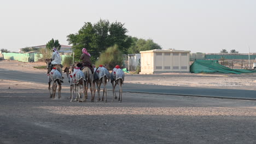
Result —
<svg viewBox="0 0 256 144"><path fill-rule="evenodd" d="M82 50L82 55L80 57L80 60L82 60L82 64L80 64L80 69L82 70L82 68L84 66L90 68L91 72L94 73L94 70L92 68L92 65L91 65L91 55L89 52L87 52L87 50L85 48L83 48Z"/></svg>

